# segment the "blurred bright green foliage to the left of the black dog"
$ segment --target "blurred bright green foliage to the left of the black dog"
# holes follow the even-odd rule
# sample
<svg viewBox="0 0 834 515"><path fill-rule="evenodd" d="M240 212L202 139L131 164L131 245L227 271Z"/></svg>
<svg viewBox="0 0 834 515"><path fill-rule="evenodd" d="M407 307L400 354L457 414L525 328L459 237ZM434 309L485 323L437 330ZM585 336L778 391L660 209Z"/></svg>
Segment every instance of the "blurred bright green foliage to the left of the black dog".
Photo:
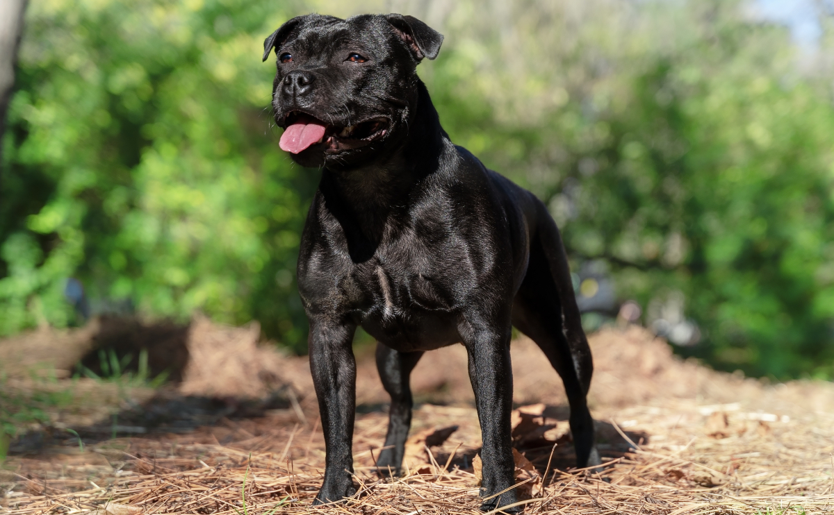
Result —
<svg viewBox="0 0 834 515"><path fill-rule="evenodd" d="M94 305L228 323L299 345L299 228L316 183L270 129L274 2L34 2L10 113L0 334Z"/></svg>

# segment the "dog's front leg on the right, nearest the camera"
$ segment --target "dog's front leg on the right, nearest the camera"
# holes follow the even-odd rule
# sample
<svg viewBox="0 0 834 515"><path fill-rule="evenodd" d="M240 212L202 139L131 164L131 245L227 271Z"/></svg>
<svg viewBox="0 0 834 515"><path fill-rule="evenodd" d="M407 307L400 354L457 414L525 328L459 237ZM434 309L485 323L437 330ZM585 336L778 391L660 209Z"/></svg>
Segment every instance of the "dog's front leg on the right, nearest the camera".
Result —
<svg viewBox="0 0 834 515"><path fill-rule="evenodd" d="M471 328L471 326L470 326ZM478 408L483 461L480 509L490 511L516 502L515 488L494 496L515 482L510 412L513 405L513 376L510 366L510 323L505 328L481 327L466 331L464 345L469 355L469 373ZM508 512L518 512L520 507Z"/></svg>

